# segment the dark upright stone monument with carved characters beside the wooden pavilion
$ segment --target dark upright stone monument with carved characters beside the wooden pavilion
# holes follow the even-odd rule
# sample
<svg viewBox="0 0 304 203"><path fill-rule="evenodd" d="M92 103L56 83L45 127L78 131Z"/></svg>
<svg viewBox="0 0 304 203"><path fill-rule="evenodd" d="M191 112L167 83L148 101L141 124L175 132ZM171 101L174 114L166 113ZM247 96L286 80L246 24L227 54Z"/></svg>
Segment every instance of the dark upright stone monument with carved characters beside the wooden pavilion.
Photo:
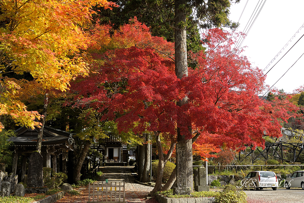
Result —
<svg viewBox="0 0 304 203"><path fill-rule="evenodd" d="M43 187L42 167L43 158L38 151L34 151L29 157L27 187Z"/></svg>

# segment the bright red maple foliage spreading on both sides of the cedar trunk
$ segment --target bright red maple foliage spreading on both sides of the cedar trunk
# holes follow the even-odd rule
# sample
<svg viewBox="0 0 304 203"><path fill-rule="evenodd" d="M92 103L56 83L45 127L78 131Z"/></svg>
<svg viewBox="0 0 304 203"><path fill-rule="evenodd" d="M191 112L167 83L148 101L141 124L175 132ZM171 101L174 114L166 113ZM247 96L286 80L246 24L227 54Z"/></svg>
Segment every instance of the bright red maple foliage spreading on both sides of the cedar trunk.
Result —
<svg viewBox="0 0 304 203"><path fill-rule="evenodd" d="M93 73L75 89L79 105L106 110L103 119L119 115L120 131L168 133L174 142L181 122L188 138L200 134L193 147L208 157L223 144L239 150L263 146L263 131L280 136L280 123L297 110L287 99L259 98L265 76L231 48L229 32L209 30L203 36L206 51L190 53L196 66L182 79L175 76L173 43L152 37L136 19L111 37L103 34L107 49L93 53ZM176 101L185 96L188 103L178 107ZM189 120L195 134L188 131Z"/></svg>

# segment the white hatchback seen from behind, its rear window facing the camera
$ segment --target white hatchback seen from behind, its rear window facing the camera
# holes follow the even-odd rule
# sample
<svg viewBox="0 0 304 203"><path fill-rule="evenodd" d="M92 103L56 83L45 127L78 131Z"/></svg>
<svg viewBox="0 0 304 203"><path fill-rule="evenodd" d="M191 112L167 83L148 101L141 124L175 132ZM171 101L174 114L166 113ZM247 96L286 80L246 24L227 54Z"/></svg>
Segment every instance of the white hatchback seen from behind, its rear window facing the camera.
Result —
<svg viewBox="0 0 304 203"><path fill-rule="evenodd" d="M254 190L278 187L278 178L272 171L251 171L241 182L244 188L253 187Z"/></svg>

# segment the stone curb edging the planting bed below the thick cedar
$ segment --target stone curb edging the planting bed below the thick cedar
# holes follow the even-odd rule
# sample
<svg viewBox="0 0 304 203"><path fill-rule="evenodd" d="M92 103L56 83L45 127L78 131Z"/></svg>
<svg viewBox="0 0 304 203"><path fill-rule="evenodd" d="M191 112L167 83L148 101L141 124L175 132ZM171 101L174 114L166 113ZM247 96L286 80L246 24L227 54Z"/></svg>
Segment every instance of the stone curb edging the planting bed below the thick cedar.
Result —
<svg viewBox="0 0 304 203"><path fill-rule="evenodd" d="M168 198L163 195L156 194L158 203L216 203L214 197L198 197L198 198Z"/></svg>

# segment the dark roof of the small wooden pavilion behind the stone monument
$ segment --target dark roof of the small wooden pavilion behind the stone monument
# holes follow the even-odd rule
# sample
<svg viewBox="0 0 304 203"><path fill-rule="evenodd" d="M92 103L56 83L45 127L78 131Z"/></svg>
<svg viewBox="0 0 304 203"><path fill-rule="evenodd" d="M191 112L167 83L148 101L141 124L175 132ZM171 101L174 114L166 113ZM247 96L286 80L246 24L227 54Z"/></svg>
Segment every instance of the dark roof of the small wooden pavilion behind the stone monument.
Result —
<svg viewBox="0 0 304 203"><path fill-rule="evenodd" d="M15 131L17 136L10 137L8 141L14 142L15 146L36 146L38 132L39 128L32 130L21 127ZM73 150L75 141L72 135L74 134L44 126L42 146L60 146L60 148Z"/></svg>

